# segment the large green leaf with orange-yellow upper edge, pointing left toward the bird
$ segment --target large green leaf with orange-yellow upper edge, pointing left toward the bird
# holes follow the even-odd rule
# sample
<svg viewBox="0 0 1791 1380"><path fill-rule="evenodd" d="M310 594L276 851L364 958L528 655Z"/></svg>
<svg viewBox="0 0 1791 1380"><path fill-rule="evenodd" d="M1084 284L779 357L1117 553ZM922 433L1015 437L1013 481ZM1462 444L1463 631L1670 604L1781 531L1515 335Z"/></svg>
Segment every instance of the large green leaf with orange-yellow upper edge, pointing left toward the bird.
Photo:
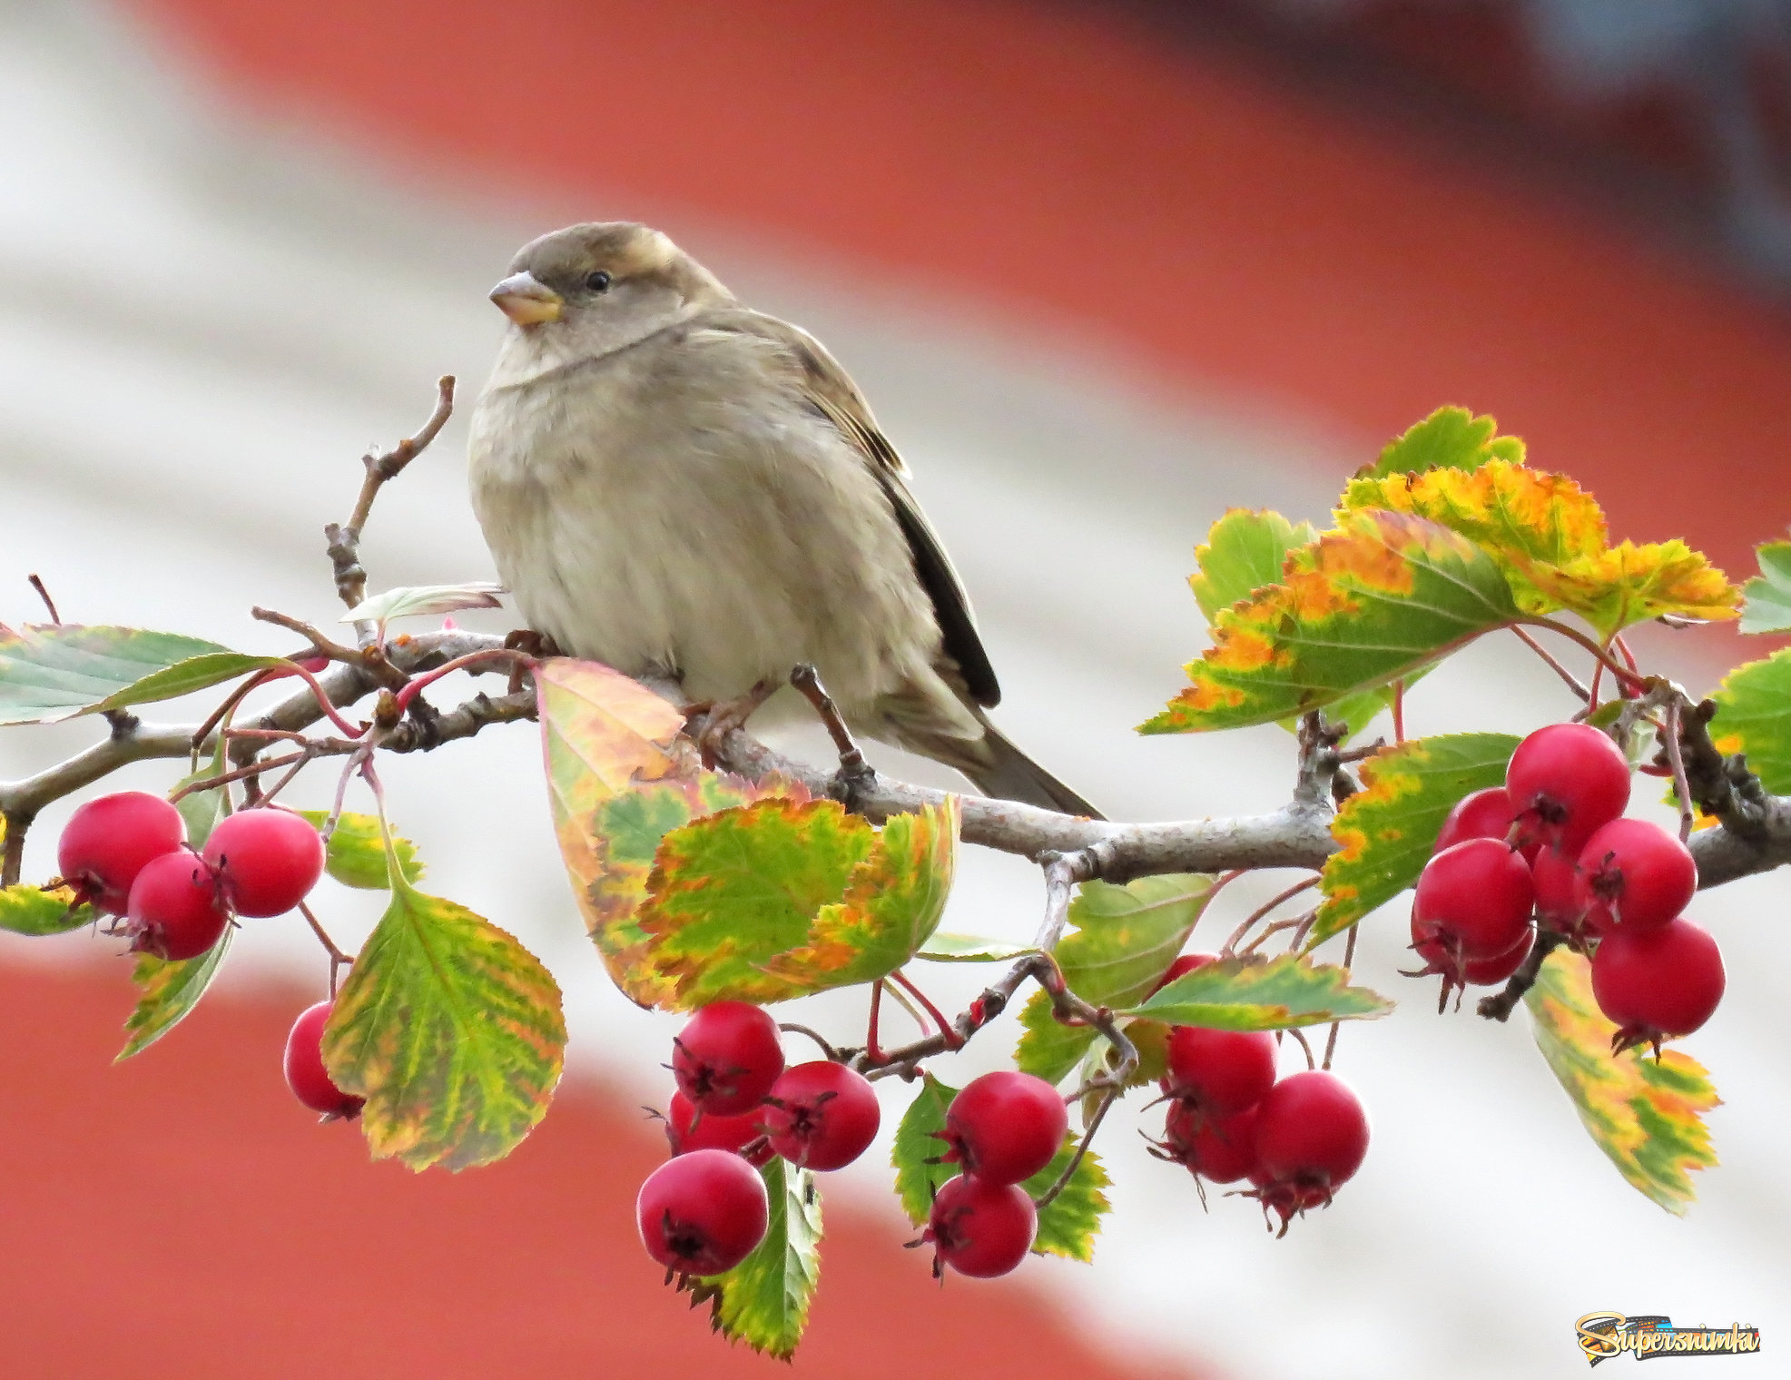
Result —
<svg viewBox="0 0 1791 1380"><path fill-rule="evenodd" d="M1517 620L1499 563L1410 513L1343 513L1281 584L1223 609L1189 686L1143 733L1266 724L1429 665Z"/></svg>

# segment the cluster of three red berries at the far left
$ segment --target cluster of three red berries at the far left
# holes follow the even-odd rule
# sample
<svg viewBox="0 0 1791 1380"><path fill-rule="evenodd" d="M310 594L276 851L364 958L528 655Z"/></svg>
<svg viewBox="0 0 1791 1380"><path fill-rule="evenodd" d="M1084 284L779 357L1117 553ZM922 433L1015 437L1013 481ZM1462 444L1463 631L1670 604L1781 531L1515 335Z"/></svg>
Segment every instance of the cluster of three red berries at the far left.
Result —
<svg viewBox="0 0 1791 1380"><path fill-rule="evenodd" d="M303 901L322 876L324 844L301 815L269 806L220 821L201 853L168 801L124 790L70 815L57 866L79 901L124 916L133 952L197 959L231 916Z"/></svg>

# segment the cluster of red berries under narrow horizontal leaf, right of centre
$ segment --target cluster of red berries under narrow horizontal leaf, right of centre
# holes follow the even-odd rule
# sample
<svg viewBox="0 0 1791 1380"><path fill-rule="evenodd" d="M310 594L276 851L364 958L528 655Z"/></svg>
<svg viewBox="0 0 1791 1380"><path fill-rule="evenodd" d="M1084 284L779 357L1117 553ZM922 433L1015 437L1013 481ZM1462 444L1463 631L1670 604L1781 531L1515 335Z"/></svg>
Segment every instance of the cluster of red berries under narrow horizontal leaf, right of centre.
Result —
<svg viewBox="0 0 1791 1380"><path fill-rule="evenodd" d="M1157 986L1214 957L1186 953ZM1368 1154L1361 1099L1322 1068L1277 1081L1275 1036L1268 1031L1177 1025L1166 1052L1162 1091L1170 1115L1157 1151L1186 1165L1195 1183L1248 1179L1248 1195L1281 1219L1284 1235L1295 1213L1329 1206L1361 1169Z"/></svg>

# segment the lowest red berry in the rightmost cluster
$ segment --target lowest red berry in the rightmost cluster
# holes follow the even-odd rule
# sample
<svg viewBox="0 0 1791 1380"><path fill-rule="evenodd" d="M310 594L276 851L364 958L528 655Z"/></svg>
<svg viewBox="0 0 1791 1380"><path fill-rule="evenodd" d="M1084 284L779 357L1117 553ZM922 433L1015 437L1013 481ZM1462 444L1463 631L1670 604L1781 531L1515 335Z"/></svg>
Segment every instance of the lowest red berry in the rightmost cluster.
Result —
<svg viewBox="0 0 1791 1380"><path fill-rule="evenodd" d="M1710 1020L1723 986L1716 939L1684 916L1658 930L1619 925L1592 955L1592 996L1617 1023L1612 1045L1619 1050L1691 1034Z"/></svg>

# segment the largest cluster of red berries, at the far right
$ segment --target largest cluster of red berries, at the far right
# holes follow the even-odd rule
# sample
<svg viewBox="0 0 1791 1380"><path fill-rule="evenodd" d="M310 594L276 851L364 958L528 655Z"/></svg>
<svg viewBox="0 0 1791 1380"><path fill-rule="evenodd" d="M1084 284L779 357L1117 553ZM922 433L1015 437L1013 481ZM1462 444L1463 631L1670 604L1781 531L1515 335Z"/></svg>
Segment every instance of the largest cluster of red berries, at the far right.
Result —
<svg viewBox="0 0 1791 1380"><path fill-rule="evenodd" d="M1589 724L1551 724L1512 755L1503 787L1460 801L1411 905L1411 944L1444 1002L1512 977L1537 925L1592 955L1615 1048L1684 1036L1723 998L1723 955L1680 912L1698 867L1675 835L1624 819L1630 765Z"/></svg>

